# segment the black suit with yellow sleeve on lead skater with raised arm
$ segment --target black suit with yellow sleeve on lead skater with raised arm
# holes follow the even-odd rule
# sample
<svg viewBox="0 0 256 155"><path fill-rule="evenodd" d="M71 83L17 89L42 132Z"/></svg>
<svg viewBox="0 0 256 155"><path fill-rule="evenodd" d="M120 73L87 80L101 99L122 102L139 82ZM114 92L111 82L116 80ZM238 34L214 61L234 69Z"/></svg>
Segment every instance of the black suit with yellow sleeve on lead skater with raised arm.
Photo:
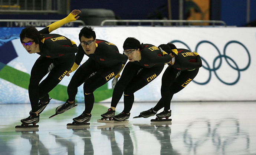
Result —
<svg viewBox="0 0 256 155"><path fill-rule="evenodd" d="M71 13L70 15L75 17ZM43 103L49 100L48 93L58 85L75 61L75 53L78 51L75 42L59 34L49 34L68 22L66 17L39 31L45 38L39 42L40 53L37 54L40 57L31 70L29 99L32 112L38 110L39 99ZM40 83L48 72L49 75Z"/></svg>

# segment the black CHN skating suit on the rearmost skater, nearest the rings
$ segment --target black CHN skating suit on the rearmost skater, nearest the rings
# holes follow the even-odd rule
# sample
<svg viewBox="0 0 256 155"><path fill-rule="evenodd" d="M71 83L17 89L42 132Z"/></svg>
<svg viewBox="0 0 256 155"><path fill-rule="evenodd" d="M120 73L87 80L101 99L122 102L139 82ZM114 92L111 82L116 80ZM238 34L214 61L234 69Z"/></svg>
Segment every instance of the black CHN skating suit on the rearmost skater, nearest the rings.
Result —
<svg viewBox="0 0 256 155"><path fill-rule="evenodd" d="M173 95L190 83L197 75L202 61L197 53L187 49L173 49L173 64L170 64L162 77L161 99L153 108L159 111L161 108L169 110Z"/></svg>

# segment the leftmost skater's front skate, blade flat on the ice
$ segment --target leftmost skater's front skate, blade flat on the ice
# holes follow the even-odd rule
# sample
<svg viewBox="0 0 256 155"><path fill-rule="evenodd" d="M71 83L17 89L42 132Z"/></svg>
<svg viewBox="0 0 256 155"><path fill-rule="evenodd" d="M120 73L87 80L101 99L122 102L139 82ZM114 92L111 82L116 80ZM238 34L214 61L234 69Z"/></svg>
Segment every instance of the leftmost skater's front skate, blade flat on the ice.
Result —
<svg viewBox="0 0 256 155"><path fill-rule="evenodd" d="M29 116L28 118L24 118L20 121L22 122L22 125L15 126L15 129L30 129L32 131L38 130L39 125L36 125L36 123L39 122L39 115L36 116L36 113L32 113L31 116Z"/></svg>

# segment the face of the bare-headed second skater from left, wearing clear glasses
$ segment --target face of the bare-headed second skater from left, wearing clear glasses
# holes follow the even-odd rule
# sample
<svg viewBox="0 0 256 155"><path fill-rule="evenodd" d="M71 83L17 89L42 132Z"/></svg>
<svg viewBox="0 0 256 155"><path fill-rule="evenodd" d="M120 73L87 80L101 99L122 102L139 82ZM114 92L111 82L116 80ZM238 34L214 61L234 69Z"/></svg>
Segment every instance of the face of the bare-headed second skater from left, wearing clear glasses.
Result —
<svg viewBox="0 0 256 155"><path fill-rule="evenodd" d="M86 54L93 54L96 50L96 39L81 37L81 45Z"/></svg>

